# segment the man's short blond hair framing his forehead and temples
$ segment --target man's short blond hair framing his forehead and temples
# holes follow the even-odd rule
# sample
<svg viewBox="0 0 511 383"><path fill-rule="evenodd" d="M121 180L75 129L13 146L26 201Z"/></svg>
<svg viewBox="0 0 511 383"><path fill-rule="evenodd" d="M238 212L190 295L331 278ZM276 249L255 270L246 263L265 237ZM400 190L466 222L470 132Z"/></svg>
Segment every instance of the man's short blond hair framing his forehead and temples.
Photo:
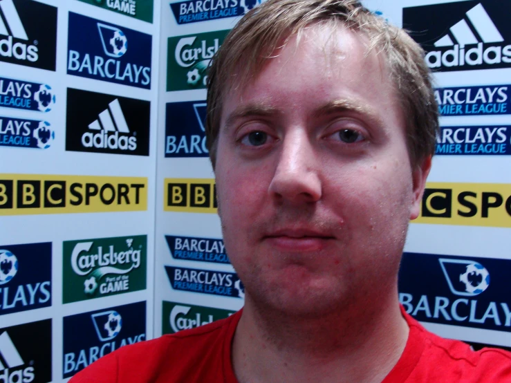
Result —
<svg viewBox="0 0 511 383"><path fill-rule="evenodd" d="M205 131L213 167L225 92L257 78L266 60L292 35L325 21L362 33L369 39L368 49L384 55L405 116L411 165L420 165L434 154L439 127L431 74L424 51L405 30L388 24L357 0L268 0L236 24L212 59Z"/></svg>

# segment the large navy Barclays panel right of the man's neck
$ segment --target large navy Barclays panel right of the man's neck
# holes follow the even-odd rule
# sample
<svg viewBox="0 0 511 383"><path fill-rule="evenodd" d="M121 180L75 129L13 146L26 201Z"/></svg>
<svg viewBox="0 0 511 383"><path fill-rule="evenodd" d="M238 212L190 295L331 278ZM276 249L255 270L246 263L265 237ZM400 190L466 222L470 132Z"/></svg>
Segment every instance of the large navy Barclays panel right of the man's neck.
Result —
<svg viewBox="0 0 511 383"><path fill-rule="evenodd" d="M508 259L405 253L399 274L400 303L419 321L509 331L509 263Z"/></svg>

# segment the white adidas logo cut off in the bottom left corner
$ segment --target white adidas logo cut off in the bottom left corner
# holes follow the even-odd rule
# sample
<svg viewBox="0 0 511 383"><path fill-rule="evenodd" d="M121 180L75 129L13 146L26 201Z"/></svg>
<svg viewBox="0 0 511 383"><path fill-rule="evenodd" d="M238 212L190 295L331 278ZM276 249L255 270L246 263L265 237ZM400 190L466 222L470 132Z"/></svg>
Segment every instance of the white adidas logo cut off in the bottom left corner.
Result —
<svg viewBox="0 0 511 383"><path fill-rule="evenodd" d="M33 367L16 369L24 364L7 331L4 331L0 335L0 382L32 382L35 378Z"/></svg>

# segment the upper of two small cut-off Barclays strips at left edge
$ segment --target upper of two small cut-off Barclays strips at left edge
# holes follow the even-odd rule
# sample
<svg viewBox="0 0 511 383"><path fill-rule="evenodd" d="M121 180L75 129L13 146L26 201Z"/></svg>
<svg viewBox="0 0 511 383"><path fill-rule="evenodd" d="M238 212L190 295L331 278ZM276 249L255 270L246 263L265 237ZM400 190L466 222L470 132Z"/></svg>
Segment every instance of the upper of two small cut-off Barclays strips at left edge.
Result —
<svg viewBox="0 0 511 383"><path fill-rule="evenodd" d="M0 77L0 106L46 113L54 105L55 93L51 86Z"/></svg>

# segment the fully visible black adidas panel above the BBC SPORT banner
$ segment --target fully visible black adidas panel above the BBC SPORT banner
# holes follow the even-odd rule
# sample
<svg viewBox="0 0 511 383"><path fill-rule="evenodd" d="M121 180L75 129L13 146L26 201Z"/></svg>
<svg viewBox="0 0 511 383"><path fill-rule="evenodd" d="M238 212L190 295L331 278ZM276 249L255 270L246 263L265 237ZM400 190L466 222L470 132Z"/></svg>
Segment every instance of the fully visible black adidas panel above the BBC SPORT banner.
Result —
<svg viewBox="0 0 511 383"><path fill-rule="evenodd" d="M148 101L68 89L66 150L149 155Z"/></svg>

